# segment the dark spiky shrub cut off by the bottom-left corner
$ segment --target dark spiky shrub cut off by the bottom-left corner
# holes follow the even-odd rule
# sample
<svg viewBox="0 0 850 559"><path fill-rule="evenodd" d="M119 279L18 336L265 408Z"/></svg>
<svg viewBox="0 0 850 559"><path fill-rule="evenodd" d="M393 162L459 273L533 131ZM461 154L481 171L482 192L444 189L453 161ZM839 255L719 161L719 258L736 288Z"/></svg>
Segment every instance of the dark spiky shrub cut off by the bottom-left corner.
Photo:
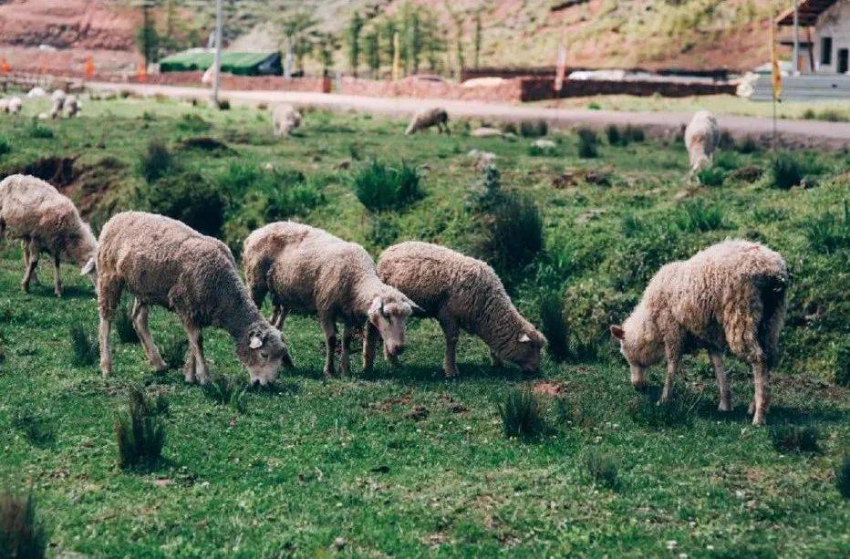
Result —
<svg viewBox="0 0 850 559"><path fill-rule="evenodd" d="M0 495L0 557L40 559L47 552L48 542L32 494L26 499L11 492Z"/></svg>

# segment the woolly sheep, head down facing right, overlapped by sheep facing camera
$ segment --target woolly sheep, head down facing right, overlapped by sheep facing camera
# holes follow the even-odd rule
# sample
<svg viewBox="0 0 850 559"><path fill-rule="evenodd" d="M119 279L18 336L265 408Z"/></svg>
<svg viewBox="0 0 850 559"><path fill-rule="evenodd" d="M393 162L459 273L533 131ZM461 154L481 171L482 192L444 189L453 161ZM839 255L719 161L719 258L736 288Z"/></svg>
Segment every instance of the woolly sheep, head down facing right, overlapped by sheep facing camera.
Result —
<svg viewBox="0 0 850 559"><path fill-rule="evenodd" d="M546 338L520 315L486 263L436 244L399 243L380 255L378 277L440 323L447 377L458 374L455 353L461 328L490 347L493 366L506 360L526 372L539 369Z"/></svg>

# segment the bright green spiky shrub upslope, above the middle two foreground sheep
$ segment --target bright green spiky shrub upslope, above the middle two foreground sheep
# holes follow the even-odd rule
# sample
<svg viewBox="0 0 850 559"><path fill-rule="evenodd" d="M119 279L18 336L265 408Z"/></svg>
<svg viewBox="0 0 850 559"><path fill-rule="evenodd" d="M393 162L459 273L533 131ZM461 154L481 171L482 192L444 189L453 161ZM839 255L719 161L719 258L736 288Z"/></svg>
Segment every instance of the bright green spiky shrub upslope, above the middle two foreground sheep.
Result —
<svg viewBox="0 0 850 559"><path fill-rule="evenodd" d="M422 196L419 170L405 161L391 167L370 160L355 171L353 182L358 200L372 212L400 208Z"/></svg>

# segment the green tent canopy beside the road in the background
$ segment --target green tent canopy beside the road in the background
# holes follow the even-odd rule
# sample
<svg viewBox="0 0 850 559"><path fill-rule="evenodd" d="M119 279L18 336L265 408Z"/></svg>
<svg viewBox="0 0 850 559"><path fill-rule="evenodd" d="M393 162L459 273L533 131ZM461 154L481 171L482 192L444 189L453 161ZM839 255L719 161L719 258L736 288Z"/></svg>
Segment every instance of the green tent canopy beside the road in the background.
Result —
<svg viewBox="0 0 850 559"><path fill-rule="evenodd" d="M215 55L210 50L186 50L160 60L161 72L206 71L213 66ZM235 76L280 76L279 52L223 52L222 72Z"/></svg>

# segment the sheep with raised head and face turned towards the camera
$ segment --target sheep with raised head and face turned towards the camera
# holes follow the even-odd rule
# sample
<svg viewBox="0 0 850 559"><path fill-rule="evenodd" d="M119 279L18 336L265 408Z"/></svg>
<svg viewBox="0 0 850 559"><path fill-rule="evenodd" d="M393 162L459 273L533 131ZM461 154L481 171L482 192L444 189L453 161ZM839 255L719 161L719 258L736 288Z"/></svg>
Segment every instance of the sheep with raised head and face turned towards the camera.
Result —
<svg viewBox="0 0 850 559"><path fill-rule="evenodd" d="M404 350L405 320L420 310L398 289L378 279L375 262L356 243L292 222L269 223L244 242L244 272L256 305L271 294L272 323L283 327L290 311L316 315L325 334L325 377L334 375L337 321L343 323L340 369L350 372L348 346L366 323L363 368L374 362L377 338L391 356ZM372 354L367 349L371 348Z"/></svg>

